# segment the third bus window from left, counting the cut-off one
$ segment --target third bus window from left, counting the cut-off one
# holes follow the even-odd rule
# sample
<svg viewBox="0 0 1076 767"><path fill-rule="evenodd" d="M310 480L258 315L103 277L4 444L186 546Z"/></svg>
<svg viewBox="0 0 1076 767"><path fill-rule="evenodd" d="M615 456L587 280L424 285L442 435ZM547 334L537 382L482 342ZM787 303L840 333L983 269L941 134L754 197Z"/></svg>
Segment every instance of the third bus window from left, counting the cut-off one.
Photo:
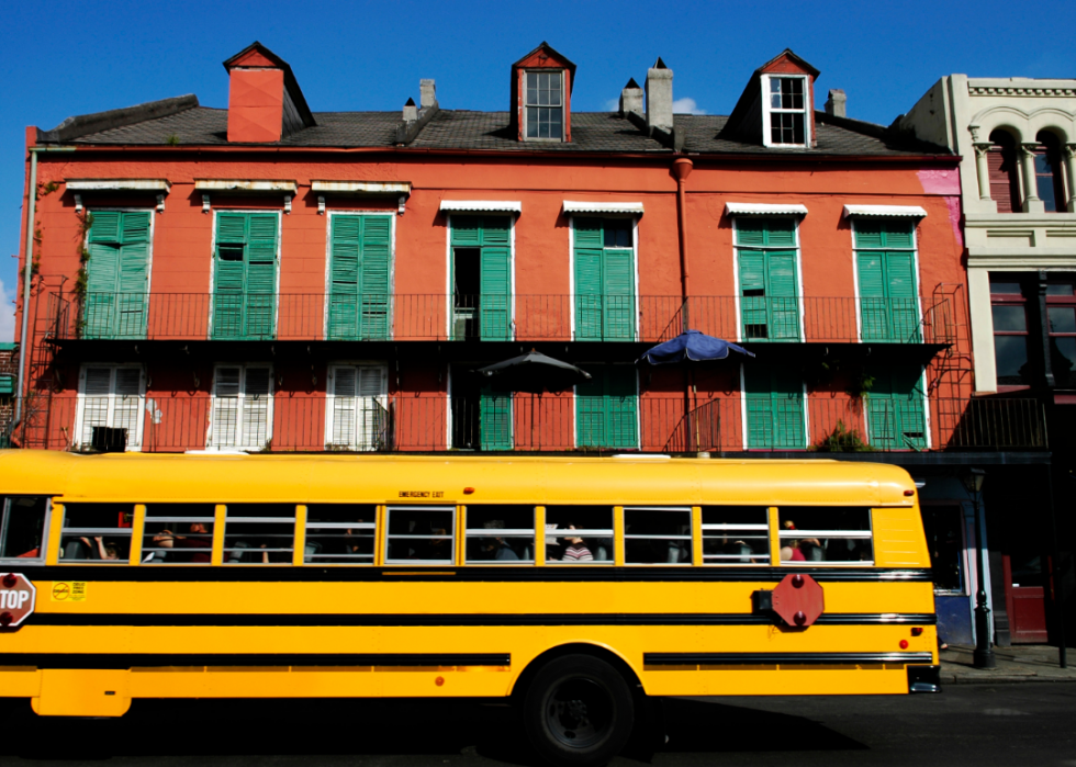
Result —
<svg viewBox="0 0 1076 767"><path fill-rule="evenodd" d="M213 504L149 504L142 537L143 564L210 564L213 512Z"/></svg>

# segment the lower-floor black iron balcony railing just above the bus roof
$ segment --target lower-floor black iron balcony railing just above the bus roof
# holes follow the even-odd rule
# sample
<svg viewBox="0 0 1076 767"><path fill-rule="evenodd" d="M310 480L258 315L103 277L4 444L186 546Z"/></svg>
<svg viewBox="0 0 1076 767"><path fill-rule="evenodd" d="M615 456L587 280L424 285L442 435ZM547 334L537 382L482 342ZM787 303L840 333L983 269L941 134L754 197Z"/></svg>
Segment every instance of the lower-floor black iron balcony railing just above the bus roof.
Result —
<svg viewBox="0 0 1076 767"><path fill-rule="evenodd" d="M751 406L746 406L751 405ZM774 397L739 395L685 402L645 392L594 407L571 393L473 395L400 393L333 397L278 392L243 401L191 396L24 398L14 447L89 448L94 426L126 429L148 452L240 449L269 452L641 451L893 452L1045 450L1046 424L1034 399Z"/></svg>

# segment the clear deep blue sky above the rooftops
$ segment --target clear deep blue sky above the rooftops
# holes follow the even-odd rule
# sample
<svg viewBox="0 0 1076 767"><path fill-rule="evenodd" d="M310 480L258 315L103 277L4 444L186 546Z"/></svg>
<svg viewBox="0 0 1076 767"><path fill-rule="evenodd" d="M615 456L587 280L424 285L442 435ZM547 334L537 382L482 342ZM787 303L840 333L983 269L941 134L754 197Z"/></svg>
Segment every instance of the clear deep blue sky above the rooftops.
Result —
<svg viewBox="0 0 1076 767"><path fill-rule="evenodd" d="M542 40L579 66L572 108L602 111L661 56L681 111L728 114L759 65L789 47L888 124L939 77L1076 78L1076 2L48 2L0 10L0 340L11 338L24 127L195 93L227 105L221 61L261 41L311 109L397 110L437 80L447 109L505 110L508 66Z"/></svg>

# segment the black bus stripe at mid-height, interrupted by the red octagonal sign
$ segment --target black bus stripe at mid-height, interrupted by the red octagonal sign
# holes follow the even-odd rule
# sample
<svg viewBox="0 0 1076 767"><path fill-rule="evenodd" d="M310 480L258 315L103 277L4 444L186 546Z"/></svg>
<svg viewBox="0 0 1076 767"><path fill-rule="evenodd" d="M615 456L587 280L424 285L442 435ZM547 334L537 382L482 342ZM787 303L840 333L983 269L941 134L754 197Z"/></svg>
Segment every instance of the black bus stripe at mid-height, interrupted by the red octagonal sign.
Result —
<svg viewBox="0 0 1076 767"><path fill-rule="evenodd" d="M832 613L820 625L933 625L931 613ZM514 625L773 625L765 614L732 613L525 613L525 614L339 614L339 613L72 613L36 612L27 625L123 627L514 627Z"/></svg>

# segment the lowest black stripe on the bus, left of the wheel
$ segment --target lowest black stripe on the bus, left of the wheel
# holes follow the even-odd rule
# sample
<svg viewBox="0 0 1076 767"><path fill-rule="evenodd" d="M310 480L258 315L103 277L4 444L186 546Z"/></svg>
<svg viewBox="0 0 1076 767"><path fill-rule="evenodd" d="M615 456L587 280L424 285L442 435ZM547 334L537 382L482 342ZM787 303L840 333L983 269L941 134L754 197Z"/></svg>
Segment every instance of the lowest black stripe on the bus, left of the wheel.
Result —
<svg viewBox="0 0 1076 767"><path fill-rule="evenodd" d="M362 653L362 654L276 654L276 653L2 653L0 666L37 668L161 668L184 666L511 666L511 653Z"/></svg>

